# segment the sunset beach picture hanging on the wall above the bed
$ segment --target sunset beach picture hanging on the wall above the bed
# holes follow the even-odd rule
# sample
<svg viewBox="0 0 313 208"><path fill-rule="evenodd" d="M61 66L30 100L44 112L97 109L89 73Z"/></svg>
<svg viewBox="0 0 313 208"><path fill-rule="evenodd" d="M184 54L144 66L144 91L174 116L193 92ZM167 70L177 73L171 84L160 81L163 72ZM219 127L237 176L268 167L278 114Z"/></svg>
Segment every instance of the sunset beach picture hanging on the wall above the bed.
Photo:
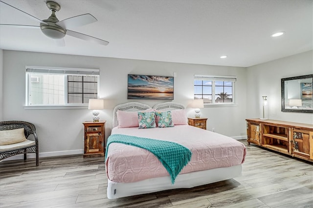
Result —
<svg viewBox="0 0 313 208"><path fill-rule="evenodd" d="M174 99L174 77L128 75L127 99Z"/></svg>

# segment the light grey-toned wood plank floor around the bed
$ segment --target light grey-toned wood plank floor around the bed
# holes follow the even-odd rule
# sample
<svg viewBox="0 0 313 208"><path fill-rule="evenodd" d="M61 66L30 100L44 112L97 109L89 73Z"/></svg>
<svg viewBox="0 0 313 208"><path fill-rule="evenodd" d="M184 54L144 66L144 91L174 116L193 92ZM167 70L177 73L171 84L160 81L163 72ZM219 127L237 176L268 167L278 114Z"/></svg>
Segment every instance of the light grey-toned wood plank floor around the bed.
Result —
<svg viewBox="0 0 313 208"><path fill-rule="evenodd" d="M106 188L103 157L0 162L1 208L313 208L313 165L249 145L238 178L114 200Z"/></svg>

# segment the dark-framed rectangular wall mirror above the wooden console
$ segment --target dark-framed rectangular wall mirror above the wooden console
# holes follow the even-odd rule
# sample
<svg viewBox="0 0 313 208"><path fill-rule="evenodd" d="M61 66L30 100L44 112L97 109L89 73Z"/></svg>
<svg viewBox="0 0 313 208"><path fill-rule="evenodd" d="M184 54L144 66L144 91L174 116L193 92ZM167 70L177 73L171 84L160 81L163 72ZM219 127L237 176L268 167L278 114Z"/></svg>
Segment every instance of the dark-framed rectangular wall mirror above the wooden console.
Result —
<svg viewBox="0 0 313 208"><path fill-rule="evenodd" d="M313 113L313 75L282 78L282 111Z"/></svg>

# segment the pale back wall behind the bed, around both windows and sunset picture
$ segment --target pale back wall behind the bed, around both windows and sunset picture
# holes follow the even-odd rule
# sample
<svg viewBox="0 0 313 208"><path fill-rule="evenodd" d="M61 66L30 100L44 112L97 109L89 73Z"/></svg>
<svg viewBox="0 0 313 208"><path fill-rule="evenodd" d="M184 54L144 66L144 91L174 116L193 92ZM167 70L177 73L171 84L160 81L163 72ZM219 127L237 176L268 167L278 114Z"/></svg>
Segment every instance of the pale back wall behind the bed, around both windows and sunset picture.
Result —
<svg viewBox="0 0 313 208"><path fill-rule="evenodd" d="M235 82L236 106L209 107L201 110L208 117L208 130L241 138L246 135L246 68L169 63L131 59L84 57L20 51L3 51L3 112L1 120L24 120L35 124L39 136L40 156L75 154L83 152L83 124L90 120L88 109L25 110L25 66L51 66L69 68L99 68L99 97L105 99L107 109L100 113L106 119L106 138L112 129L112 110L115 105L140 101L153 106L157 100L128 100L127 75L173 76L174 101L187 106L193 99L193 76L237 76ZM190 110L188 115L193 115Z"/></svg>

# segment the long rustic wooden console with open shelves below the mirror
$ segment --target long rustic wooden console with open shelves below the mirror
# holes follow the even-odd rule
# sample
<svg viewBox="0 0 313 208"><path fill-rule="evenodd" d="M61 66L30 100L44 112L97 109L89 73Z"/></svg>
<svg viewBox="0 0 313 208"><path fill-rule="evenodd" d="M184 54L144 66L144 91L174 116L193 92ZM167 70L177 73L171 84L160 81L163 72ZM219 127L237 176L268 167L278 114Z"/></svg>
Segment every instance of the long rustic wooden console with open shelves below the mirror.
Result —
<svg viewBox="0 0 313 208"><path fill-rule="evenodd" d="M246 119L247 143L313 162L313 125Z"/></svg>

